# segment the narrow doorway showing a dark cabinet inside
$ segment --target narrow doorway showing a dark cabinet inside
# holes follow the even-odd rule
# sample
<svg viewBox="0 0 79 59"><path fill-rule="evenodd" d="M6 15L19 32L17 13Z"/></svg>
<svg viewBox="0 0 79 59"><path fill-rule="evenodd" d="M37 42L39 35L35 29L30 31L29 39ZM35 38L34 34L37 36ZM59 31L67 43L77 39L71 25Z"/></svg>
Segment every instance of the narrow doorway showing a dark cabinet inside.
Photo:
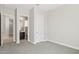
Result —
<svg viewBox="0 0 79 59"><path fill-rule="evenodd" d="M20 42L28 41L28 17L20 16Z"/></svg>

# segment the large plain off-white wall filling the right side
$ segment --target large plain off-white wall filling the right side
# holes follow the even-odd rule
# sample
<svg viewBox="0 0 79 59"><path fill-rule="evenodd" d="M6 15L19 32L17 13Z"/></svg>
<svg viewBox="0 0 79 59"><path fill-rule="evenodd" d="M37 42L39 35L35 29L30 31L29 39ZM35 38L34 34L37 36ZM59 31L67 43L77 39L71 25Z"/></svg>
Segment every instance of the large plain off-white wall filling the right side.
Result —
<svg viewBox="0 0 79 59"><path fill-rule="evenodd" d="M79 5L64 5L48 12L48 40L79 49Z"/></svg>

